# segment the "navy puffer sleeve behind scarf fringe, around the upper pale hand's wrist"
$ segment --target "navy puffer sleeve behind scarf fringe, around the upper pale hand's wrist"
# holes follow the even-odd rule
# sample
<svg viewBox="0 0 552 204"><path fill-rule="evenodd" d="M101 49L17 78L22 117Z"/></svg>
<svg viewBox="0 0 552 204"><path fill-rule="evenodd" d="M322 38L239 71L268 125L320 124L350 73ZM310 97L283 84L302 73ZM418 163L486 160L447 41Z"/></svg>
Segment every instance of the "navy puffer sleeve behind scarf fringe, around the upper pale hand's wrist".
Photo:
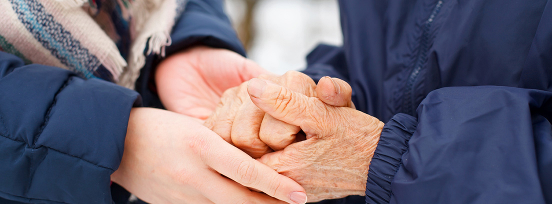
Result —
<svg viewBox="0 0 552 204"><path fill-rule="evenodd" d="M166 55L183 51L190 46L205 45L235 51L246 56L245 49L224 13L222 0L189 0L184 12L177 19L171 33L172 44L166 47ZM163 108L155 88L155 67L162 59L148 56L136 81L136 90L142 95L144 105Z"/></svg>

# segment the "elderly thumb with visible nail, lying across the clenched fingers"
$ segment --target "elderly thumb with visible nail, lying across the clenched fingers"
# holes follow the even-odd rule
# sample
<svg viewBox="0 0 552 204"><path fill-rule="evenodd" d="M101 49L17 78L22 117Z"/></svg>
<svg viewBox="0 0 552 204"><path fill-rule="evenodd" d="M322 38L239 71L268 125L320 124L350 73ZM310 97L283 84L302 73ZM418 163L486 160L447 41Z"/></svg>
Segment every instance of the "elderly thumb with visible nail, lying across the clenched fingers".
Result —
<svg viewBox="0 0 552 204"><path fill-rule="evenodd" d="M309 98L281 85L253 78L247 84L247 92L253 104L275 119L305 129L312 129L307 124L314 124L312 111L326 106L317 98ZM325 110L325 109L323 109Z"/></svg>

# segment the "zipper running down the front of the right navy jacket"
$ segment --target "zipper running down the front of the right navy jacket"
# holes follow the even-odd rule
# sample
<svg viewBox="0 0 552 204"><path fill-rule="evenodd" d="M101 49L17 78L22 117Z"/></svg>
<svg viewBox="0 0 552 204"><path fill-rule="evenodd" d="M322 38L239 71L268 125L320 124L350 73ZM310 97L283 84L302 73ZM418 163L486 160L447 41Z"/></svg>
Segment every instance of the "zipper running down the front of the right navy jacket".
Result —
<svg viewBox="0 0 552 204"><path fill-rule="evenodd" d="M433 12L431 12L431 15L426 20L425 26L422 30L422 38L420 40L418 57L416 58L414 64L415 67L412 69L412 71L410 72L410 76L407 78L405 92L403 93L403 96L405 97L403 102L403 111L408 115L413 116L414 112L416 111L416 107L412 107L415 103L414 83L420 75L422 66L427 62L429 46L432 44L432 42L429 40L429 38L431 37L429 31L442 6L443 1L438 1L435 8L433 8Z"/></svg>

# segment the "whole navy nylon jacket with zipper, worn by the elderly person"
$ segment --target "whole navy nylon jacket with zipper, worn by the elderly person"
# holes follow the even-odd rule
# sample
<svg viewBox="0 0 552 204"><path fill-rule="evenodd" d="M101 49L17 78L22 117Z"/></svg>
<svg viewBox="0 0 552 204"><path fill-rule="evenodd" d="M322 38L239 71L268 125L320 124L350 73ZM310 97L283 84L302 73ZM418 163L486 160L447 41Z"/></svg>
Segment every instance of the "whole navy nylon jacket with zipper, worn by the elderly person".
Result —
<svg viewBox="0 0 552 204"><path fill-rule="evenodd" d="M367 196L323 203L552 203L552 2L339 6L343 46L304 72L386 125Z"/></svg>

